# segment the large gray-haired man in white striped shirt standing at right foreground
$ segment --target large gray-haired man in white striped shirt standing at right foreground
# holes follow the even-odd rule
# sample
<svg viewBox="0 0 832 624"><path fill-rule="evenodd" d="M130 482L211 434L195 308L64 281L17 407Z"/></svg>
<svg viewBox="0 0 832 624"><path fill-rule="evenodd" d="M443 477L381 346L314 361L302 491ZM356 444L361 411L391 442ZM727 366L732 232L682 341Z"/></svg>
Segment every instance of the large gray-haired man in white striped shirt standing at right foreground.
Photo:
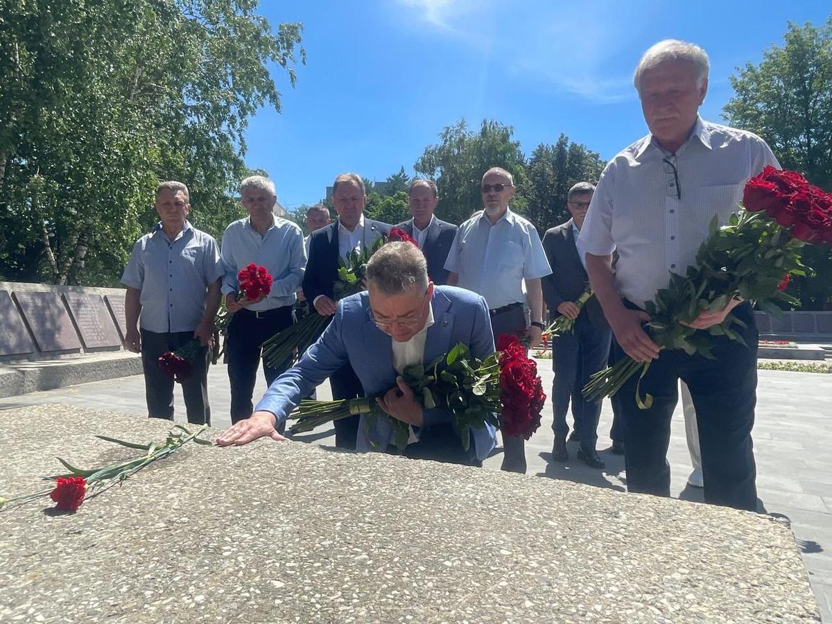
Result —
<svg viewBox="0 0 832 624"><path fill-rule="evenodd" d="M701 47L667 40L651 47L634 83L650 134L621 151L598 181L581 230L587 273L612 327L619 355L656 359L641 379L654 396L651 409L636 406L634 376L619 391L623 413L627 489L670 494L666 452L677 380L691 390L701 443L705 499L756 508L751 428L756 401L757 330L748 302L704 311L691 323L708 329L733 312L748 347L713 338L716 360L659 348L642 329L643 310L670 273L684 275L714 216L725 223L737 210L743 186L767 165L778 166L765 141L750 132L702 121L708 57ZM612 270L612 252L619 260ZM616 349L616 348L614 348Z"/></svg>

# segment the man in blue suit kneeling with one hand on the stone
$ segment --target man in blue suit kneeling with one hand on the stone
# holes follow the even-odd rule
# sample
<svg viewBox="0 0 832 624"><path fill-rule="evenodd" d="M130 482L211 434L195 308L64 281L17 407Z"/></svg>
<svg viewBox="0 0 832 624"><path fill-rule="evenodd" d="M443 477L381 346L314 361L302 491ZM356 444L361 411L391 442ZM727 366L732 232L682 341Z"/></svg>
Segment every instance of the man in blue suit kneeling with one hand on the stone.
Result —
<svg viewBox="0 0 832 624"><path fill-rule="evenodd" d="M423 254L410 243L389 243L373 255L367 267L369 292L340 300L334 319L295 367L275 379L247 420L227 429L217 443L240 445L269 436L285 438L275 427L311 389L334 370L352 364L367 396L379 396L384 411L412 428L405 455L438 461L481 465L494 448L490 425L472 429L471 445L463 451L450 415L423 409L400 374L411 364L425 364L455 344L468 345L485 358L494 350L491 320L485 300L468 290L437 286L428 280ZM359 451L389 450L389 423L379 418L370 430L361 417Z"/></svg>

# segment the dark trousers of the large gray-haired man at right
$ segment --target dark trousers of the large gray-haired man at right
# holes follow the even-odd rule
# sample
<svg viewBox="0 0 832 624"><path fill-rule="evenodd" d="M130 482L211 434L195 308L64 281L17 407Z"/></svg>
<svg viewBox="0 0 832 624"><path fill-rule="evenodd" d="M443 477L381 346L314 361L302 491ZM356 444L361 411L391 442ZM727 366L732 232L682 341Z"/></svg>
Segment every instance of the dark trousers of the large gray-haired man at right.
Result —
<svg viewBox="0 0 832 624"><path fill-rule="evenodd" d="M681 378L691 390L696 407L705 502L756 509L751 428L756 403L758 334L750 305L739 305L734 313L748 325L745 329L735 326L747 347L725 336L714 336L711 342L715 345L715 359L687 355L681 349L662 351L641 379L642 396L653 396L650 409L636 405L639 374L619 390L630 492L670 495L671 474L666 455ZM622 354L617 347L617 356Z"/></svg>

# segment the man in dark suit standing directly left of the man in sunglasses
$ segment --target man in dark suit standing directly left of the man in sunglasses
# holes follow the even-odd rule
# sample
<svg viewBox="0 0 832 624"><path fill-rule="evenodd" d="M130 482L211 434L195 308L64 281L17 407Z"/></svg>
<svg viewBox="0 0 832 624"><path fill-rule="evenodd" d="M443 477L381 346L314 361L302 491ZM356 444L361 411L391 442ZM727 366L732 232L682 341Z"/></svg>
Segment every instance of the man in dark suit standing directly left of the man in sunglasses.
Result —
<svg viewBox="0 0 832 624"><path fill-rule="evenodd" d="M448 260L448 251L458 228L433 215L438 201L436 182L415 178L410 182L408 189L408 202L413 219L399 223L396 227L414 237L425 260L428 260L430 280L435 285L443 286L448 284L449 273L445 269L445 260Z"/></svg>

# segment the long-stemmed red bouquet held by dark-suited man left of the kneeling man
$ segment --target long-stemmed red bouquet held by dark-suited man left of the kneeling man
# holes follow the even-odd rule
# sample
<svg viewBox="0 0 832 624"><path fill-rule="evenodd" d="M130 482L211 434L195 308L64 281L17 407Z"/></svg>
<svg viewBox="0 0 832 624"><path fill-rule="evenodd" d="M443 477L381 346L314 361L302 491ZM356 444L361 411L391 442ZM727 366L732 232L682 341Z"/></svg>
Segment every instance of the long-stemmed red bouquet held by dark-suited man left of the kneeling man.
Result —
<svg viewBox="0 0 832 624"><path fill-rule="evenodd" d="M374 245L367 249L349 252L346 262L339 258L338 279L334 284L334 298L336 301L355 295L364 290L364 273L370 257L385 243L405 241L416 245L416 241L407 232L398 227L389 231L386 238L379 238ZM418 246L418 245L417 245ZM310 301L310 305L313 302ZM295 354L300 358L314 342L324 333L331 316L321 314L307 314L297 323L267 339L263 344L263 361L272 367L278 367Z"/></svg>

